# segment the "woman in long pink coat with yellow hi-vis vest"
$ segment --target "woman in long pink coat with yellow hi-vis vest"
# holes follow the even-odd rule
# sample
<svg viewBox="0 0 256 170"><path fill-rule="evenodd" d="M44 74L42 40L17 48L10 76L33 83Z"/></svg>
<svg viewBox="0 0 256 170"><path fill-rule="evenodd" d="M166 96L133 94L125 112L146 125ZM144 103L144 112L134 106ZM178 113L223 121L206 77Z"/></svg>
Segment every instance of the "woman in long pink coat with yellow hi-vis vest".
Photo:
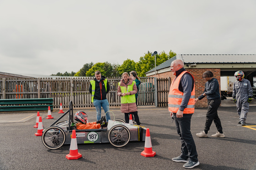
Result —
<svg viewBox="0 0 256 170"><path fill-rule="evenodd" d="M127 72L122 75L123 79L118 83L117 95L121 96L121 112L124 113L126 123L129 123L129 114L133 114L137 125L140 125L135 94L138 89Z"/></svg>

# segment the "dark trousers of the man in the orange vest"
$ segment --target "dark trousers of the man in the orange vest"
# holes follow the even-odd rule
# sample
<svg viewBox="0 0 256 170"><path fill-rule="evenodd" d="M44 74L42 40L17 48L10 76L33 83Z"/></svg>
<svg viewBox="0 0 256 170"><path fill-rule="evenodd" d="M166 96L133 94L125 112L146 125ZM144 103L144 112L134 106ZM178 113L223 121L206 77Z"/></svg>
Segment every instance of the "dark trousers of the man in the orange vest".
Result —
<svg viewBox="0 0 256 170"><path fill-rule="evenodd" d="M193 136L190 131L192 114L183 114L182 118L177 118L176 113L173 113L173 118L176 124L178 135L181 139L181 155L184 160L192 160L197 162L197 149Z"/></svg>

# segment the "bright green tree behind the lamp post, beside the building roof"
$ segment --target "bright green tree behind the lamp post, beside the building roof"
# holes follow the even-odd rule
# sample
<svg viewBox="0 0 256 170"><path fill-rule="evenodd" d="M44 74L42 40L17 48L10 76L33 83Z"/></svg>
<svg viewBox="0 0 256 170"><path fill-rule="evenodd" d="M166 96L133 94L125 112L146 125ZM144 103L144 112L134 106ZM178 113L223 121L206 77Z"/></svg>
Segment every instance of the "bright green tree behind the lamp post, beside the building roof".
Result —
<svg viewBox="0 0 256 170"><path fill-rule="evenodd" d="M137 75L140 77L146 76L146 72L155 68L155 58L156 58L156 66L162 64L163 62L171 59L176 56L176 53L170 50L168 54L165 51L160 52L156 56L152 56L151 52L148 51L143 57L140 57L139 62L135 65L135 70L137 71Z"/></svg>

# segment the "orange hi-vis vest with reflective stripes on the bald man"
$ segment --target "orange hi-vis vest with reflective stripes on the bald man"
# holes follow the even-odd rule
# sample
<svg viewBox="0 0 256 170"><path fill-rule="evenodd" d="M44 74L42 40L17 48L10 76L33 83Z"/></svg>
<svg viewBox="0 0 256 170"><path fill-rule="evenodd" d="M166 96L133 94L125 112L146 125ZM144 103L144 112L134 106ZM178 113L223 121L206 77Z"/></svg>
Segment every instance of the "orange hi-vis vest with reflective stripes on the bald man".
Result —
<svg viewBox="0 0 256 170"><path fill-rule="evenodd" d="M183 92L181 92L179 90L179 84L180 84L180 81L181 81L181 77L185 73L189 73L189 72L183 71L171 83L171 87L170 87L170 91L169 91L169 95L168 95L168 109L172 113L177 113L177 111L179 110L179 107L181 105ZM194 79L194 77L193 77L193 79ZM194 110L195 110L195 83L194 83L193 90L191 92L190 99L189 99L188 104L187 104L187 108L185 108L183 110L183 114L192 114L192 113L194 113Z"/></svg>

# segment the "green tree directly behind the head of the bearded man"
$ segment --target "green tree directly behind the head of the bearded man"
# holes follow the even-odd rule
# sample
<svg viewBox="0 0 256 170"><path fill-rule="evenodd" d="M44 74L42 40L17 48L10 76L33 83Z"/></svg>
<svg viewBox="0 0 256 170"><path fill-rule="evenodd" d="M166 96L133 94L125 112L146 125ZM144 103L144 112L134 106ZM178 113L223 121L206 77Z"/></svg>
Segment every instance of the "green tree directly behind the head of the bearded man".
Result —
<svg viewBox="0 0 256 170"><path fill-rule="evenodd" d="M96 63L86 72L86 76L95 76L95 71L99 70L101 72L101 75L104 75L105 77L112 76L112 70L113 67L110 63L104 62L104 63Z"/></svg>

